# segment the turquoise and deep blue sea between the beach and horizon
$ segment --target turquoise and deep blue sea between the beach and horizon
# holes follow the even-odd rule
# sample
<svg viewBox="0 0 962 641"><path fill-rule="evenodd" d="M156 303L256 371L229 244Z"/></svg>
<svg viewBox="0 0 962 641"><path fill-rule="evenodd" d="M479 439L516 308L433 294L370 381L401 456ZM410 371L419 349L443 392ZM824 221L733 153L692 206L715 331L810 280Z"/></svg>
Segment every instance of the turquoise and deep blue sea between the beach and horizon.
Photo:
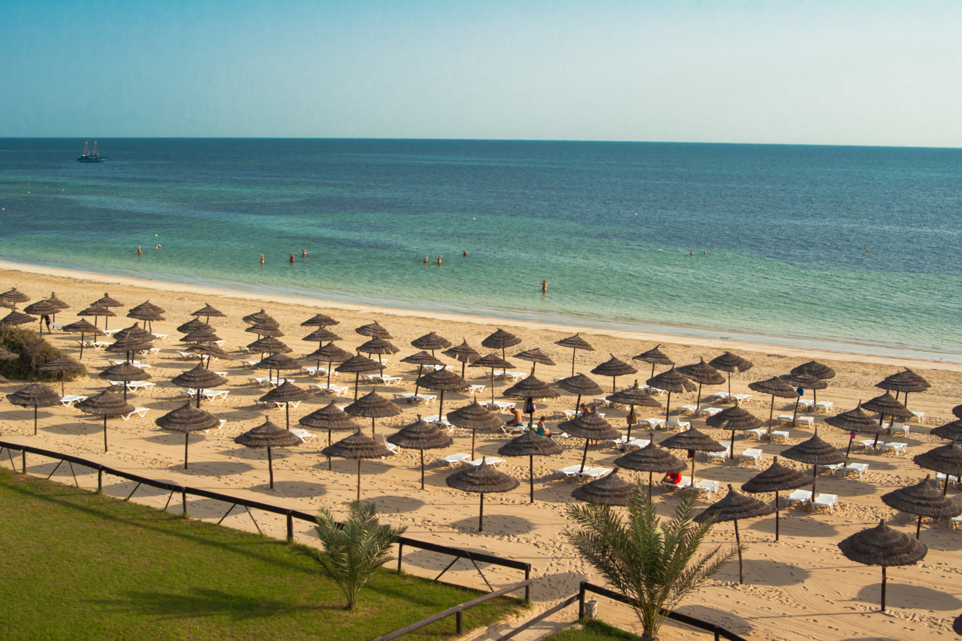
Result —
<svg viewBox="0 0 962 641"><path fill-rule="evenodd" d="M109 158L89 164L75 160L84 140L0 138L0 259L962 360L959 149L156 138L98 146Z"/></svg>

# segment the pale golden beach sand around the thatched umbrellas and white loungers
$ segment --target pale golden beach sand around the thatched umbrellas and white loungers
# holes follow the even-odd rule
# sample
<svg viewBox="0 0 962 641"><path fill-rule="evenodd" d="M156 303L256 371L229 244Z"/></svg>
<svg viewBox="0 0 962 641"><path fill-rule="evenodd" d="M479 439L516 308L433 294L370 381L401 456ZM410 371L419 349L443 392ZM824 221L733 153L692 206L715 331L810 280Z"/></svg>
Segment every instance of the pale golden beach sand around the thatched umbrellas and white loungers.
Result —
<svg viewBox="0 0 962 641"><path fill-rule="evenodd" d="M287 334L282 340L291 346L295 354L316 349L316 343L300 340L301 336L307 335L313 328L301 328L299 323L318 310L323 310L341 321L341 325L329 329L343 336L344 340L340 341L339 345L347 350L367 339L354 333L354 328L376 319L388 328L394 336L392 343L401 349L399 354L390 357L386 371L403 376L404 381L394 386L379 386L379 391L389 396L395 391L413 391L416 370L413 372L411 367L398 363L398 359L418 351L411 347L410 341L432 330L455 343L459 343L462 337L467 337L468 342L476 348L480 348L481 339L497 327L516 333L523 342L508 351L509 360L511 354L520 350L540 347L558 363L550 367L538 366L537 376L548 381L552 377L570 374L571 352L554 345L554 341L575 331L581 331L596 350L594 353L577 354L576 370L585 373L597 363L606 360L609 353L631 362L630 357L646 351L656 342L664 343L662 349L678 363L696 361L697 357L705 357L707 360L717 356L723 349L738 351L755 363L754 368L748 372L732 376L732 391L742 393L750 393L747 389L748 382L785 373L803 360L817 357L839 373L830 382L828 389L819 394L820 400L833 401L836 411L854 407L859 399L867 400L880 393L881 390L875 388L873 383L895 372L898 366L912 366L932 383L932 387L926 393L912 394L909 397L910 408L926 413L924 426L913 426L913 431L907 438L889 439L907 442L909 456L860 453L854 455L852 460L868 462L871 465L870 472L863 480L836 479L824 475L820 477L820 490L838 494L841 505L834 515L813 515L797 509L784 510L780 543L771 540L772 518L743 522L743 540L750 544L746 555L746 585L739 586L732 582L732 579L737 580L738 567L737 564L731 564L725 568L718 580L690 597L678 609L686 614L719 623L748 638L760 639L923 638L933 633L950 634L950 622L962 610L962 598L958 596L957 588L960 571L954 558L954 553L962 549L962 532L949 530L944 524L925 526L923 541L929 546L929 554L924 562L914 567L892 568L889 572L889 614L873 612L878 601L878 568L851 563L835 547L835 544L848 534L872 527L882 517L893 518L899 530L914 534L914 526L908 515L895 513L884 506L878 496L924 477L924 472L912 463L911 456L941 442L940 439L928 435L928 429L951 420L950 408L962 403L962 375L959 374L959 364L843 355L819 350L802 351L783 346L687 337L683 339L684 344L680 344L677 337L666 335L556 325L539 327L536 323L360 305L327 305L286 296L228 292L181 284L71 273L66 270L30 268L30 271L48 273L27 273L27 268L19 272L0 272L3 289L16 286L34 300L48 296L50 291L56 291L63 301L72 306L58 315L59 323L76 320L74 312L87 307L90 302L102 296L104 291L109 291L126 306L119 317L111 319L111 328L130 325L130 319L123 317L126 309L149 299L167 311L168 320L155 323L155 331L169 333L171 336L167 342L158 343L158 346L164 348L158 357L143 359L153 365L150 373L154 375L154 381L158 382L157 387L153 391L131 397L133 405L149 407L150 412L142 419L111 421L111 450L107 455L102 451L102 434L98 421L75 409L41 409L40 430L35 437L32 426L33 411L4 404L4 411L0 414L3 438L93 458L146 476L256 497L259 500L267 498L278 505L308 511L321 505L342 510L345 503L354 497L356 466L353 462L335 460L334 470L329 472L326 460L317 454L326 442L326 435L318 435L318 440L310 445L275 454L277 490L267 490L265 453L242 448L232 440L241 431L262 423L265 415L270 416L275 423L282 423L284 420L283 410L265 411L254 405L253 399L263 395L266 389L247 384L246 377L260 376L261 371L255 373L242 368L237 361L215 362L215 369L224 369L230 373L230 385L227 388L231 393L226 403L217 402L205 407L227 419L228 423L222 431L191 435L192 463L186 472L182 469L184 437L180 433L162 431L154 425L153 419L179 404L174 400L177 388L167 381L192 366L191 363L178 359L173 353L178 337L174 328L190 320L190 311L210 302L215 308L225 312L227 318L212 319L212 324L217 328L217 333L226 340L225 347L234 349L234 346L249 343L255 338L254 335L243 332L246 326L241 322L241 316L264 307L281 323L281 330ZM73 347L76 338L54 333L51 340L76 356ZM483 349L479 351L486 353ZM105 357L102 352L88 351L85 352L84 362L95 373L107 364ZM639 373L621 378L620 387L630 384L636 377L640 382L648 378L650 367L646 363L634 362L638 365ZM528 363L524 361L516 360L515 364L518 370L528 369ZM298 383L314 382L313 379L300 375L296 378ZM598 377L595 379L602 387L610 389L610 380ZM478 370L468 369L468 380L486 384L482 372ZM347 384L345 377L339 382ZM2 391L10 393L19 386L21 385L3 385ZM503 382L496 385L497 389L503 389L504 386ZM82 380L68 383L67 393L91 394L102 388L103 385L96 379ZM363 385L362 393L369 389L370 385ZM714 389L721 390L723 387ZM572 407L574 398L567 393L563 394L561 399L548 402L544 408L550 410L556 407ZM678 398L679 396L681 398ZM464 405L467 401L468 397L465 395L446 394L445 411ZM675 407L676 403L694 404L695 395L672 395L671 402L672 407ZM325 403L322 397L306 401L291 410L291 418L295 420ZM401 407L404 409L402 415L378 420L377 430L390 433L412 421L416 413L437 412L437 405L430 408L406 405ZM767 399L760 399L756 395L747 407L767 418ZM776 402L775 413L790 412L787 407L787 404ZM624 410L603 411L613 424L623 429ZM642 416L656 414L657 412L651 412ZM818 425L821 416L815 416ZM367 425L367 430L370 429L364 420L360 421L360 424ZM694 424L698 429L706 430L704 421L696 419ZM722 441L727 439L727 432L707 431ZM792 429L791 432L790 443L797 443L811 435L811 431L807 429ZM821 425L819 433L839 446L844 446L848 439L847 434L824 425ZM343 435L344 432L340 434L341 437ZM338 436L336 433L335 437ZM664 434L656 434L656 440L664 437ZM479 434L478 452L485 456L496 456L498 447L506 440L507 437L503 435ZM583 442L570 439L565 444L565 454L542 461L536 459L537 503L534 505L527 503L527 461L509 459L502 469L515 475L522 484L510 494L486 497L486 531L483 534L474 531L477 526L477 497L447 488L443 479L448 473L447 470L430 465L427 471L427 489L419 489L416 452L403 451L391 459L365 462L362 497L376 501L387 521L407 526L408 534L414 538L530 561L535 567L534 575L539 579L533 589L533 597L540 606L546 606L574 592L578 580L583 577L601 582L565 543L562 535L566 526L564 508L570 502L570 491L574 486L556 480L548 471L552 467L578 462L581 456L579 444ZM736 439L736 453L749 446L756 444L752 442L749 445L741 436ZM777 455L785 448L781 444L768 443L757 447L765 452L760 466L747 463L722 465L718 462L707 462L699 456L698 476L722 483L731 482L737 487L760 469L767 467L772 455ZM455 434L454 446L437 454L469 452L469 448L469 432L459 431ZM430 458L435 453L427 454ZM620 456L620 452L610 447L598 446L589 450L589 461L595 465L610 467L617 456ZM6 452L3 453L3 458L7 459ZM45 476L53 469L53 465L41 465L39 459L35 459L33 462L36 467L32 471ZM518 464L515 464L516 462ZM10 466L11 463L7 460L6 464ZM73 481L69 470L63 466L55 479ZM96 475L89 474L89 471L78 474L78 479L83 486L96 483ZM114 495L126 496L133 487L133 483L115 483L108 487L108 491ZM949 496L957 500L954 490L949 489ZM134 498L145 504L161 507L166 499L167 497L159 492L143 488L138 490ZM658 502L662 505L662 513L667 515L673 505L676 505L677 499L670 494L660 495ZM176 500L174 504L179 509ZM708 504L707 500L700 502L702 506ZM207 500L192 500L189 505L192 516L214 521L220 518L226 508L227 505ZM256 513L255 517L266 533L283 536L282 519L261 512ZM250 517L240 510L228 516L224 524L244 530L254 529ZM295 529L301 540L308 540L311 536L310 528L306 524L297 523ZM729 543L733 539L729 524L719 525L712 532L712 540ZM412 572L433 577L443 569L447 560L440 555L412 551L405 554L405 564ZM502 585L519 579L518 572L501 568L485 568L485 574L492 582ZM483 586L476 571L466 561L455 565L454 569L449 571L448 577ZM601 614L607 620L632 628L632 615L626 608L604 602ZM573 614L568 610L556 620L571 618ZM691 630L673 626L666 629L663 636L667 639L704 638L703 635L693 634Z"/></svg>

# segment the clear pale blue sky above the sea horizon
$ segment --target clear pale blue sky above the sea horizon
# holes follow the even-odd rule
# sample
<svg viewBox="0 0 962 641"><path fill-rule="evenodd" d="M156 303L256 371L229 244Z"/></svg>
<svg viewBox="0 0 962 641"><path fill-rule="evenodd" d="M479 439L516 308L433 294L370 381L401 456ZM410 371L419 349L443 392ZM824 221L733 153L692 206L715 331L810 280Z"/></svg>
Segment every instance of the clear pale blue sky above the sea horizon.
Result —
<svg viewBox="0 0 962 641"><path fill-rule="evenodd" d="M12 2L0 136L962 146L962 3Z"/></svg>

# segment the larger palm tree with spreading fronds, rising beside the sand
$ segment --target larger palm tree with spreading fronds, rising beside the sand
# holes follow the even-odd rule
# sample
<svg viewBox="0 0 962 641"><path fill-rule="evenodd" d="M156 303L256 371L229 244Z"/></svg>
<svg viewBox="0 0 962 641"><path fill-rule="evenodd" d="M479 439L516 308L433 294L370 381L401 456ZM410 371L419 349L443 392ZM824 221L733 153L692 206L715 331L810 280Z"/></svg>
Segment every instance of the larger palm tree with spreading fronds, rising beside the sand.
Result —
<svg viewBox="0 0 962 641"><path fill-rule="evenodd" d="M695 502L696 493L688 493L671 519L663 523L645 487L636 482L627 521L609 505L568 507L569 518L580 526L565 531L571 545L632 600L644 641L657 641L668 611L738 552L732 548L722 553L721 546L716 546L697 555L712 523L710 519L692 521Z"/></svg>

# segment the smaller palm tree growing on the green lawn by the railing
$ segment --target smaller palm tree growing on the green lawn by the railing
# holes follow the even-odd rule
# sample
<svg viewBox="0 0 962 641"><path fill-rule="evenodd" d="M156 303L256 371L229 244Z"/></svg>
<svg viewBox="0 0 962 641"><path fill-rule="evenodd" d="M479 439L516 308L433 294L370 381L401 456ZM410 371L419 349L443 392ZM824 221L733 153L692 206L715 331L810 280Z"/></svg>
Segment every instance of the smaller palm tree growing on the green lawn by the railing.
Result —
<svg viewBox="0 0 962 641"><path fill-rule="evenodd" d="M298 545L293 551L314 559L320 571L338 584L347 600L345 610L354 609L361 588L388 562L392 544L407 530L379 525L376 511L372 503L354 501L341 527L330 510L321 507L315 530L322 550Z"/></svg>

